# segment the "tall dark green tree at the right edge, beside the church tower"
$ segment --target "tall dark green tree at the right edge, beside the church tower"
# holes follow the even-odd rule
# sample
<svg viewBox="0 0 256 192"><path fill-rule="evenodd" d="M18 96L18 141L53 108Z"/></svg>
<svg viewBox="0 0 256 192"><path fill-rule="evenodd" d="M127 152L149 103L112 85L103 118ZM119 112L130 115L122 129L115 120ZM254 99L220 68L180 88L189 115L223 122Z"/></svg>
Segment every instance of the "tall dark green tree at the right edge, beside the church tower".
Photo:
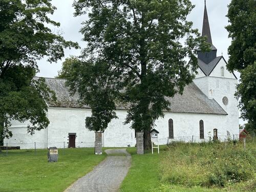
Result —
<svg viewBox="0 0 256 192"><path fill-rule="evenodd" d="M248 119L256 130L256 2L232 0L228 6L226 27L232 38L228 48L228 69L238 70L241 81L237 86L237 98L242 118Z"/></svg>

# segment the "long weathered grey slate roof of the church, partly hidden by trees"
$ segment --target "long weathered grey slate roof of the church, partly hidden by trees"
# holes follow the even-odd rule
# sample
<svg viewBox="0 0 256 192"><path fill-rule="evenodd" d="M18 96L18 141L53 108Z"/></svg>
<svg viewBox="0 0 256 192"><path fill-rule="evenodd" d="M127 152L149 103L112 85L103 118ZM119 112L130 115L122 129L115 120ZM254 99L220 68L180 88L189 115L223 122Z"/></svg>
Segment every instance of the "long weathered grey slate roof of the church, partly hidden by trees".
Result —
<svg viewBox="0 0 256 192"><path fill-rule="evenodd" d="M70 96L68 88L65 86L65 79L45 78L47 86L55 91L57 102L50 103L52 107L63 108L90 108L88 105L79 104L79 95L76 93ZM182 113L203 113L221 114L227 113L214 100L209 99L193 82L184 88L183 95L176 94L173 98L167 98L171 105L170 111ZM121 103L117 104L117 109L127 110L129 106Z"/></svg>

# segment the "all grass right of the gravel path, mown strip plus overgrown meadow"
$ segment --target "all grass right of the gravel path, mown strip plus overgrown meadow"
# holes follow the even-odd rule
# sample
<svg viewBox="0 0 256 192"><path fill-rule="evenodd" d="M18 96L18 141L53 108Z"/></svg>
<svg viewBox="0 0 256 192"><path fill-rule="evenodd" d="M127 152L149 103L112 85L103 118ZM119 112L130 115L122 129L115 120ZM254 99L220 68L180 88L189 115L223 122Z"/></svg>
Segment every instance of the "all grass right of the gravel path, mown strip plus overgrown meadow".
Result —
<svg viewBox="0 0 256 192"><path fill-rule="evenodd" d="M235 146L228 144L224 150L224 143L217 144L184 144L177 143L175 146L160 146L160 154L151 154L151 151L147 151L144 155L137 155L136 148L127 148L127 151L132 154L132 166L129 173L125 177L120 187L121 192L137 191L137 192L221 192L221 191L256 191L255 180L255 160L256 155L256 143L250 142L247 144L246 153L242 149L242 143L238 143ZM217 150L217 153L215 152ZM212 158L209 154L217 156L218 158ZM252 155L251 157L244 155ZM232 159L239 157L242 163L236 163L240 159ZM244 156L244 157L243 157ZM223 159L219 159L223 157ZM225 187L219 186L202 186L201 183L207 181L207 168L213 169L214 166L219 165L226 157L229 157L227 165L236 172L241 170L242 166L247 166L245 170L246 174L248 168L254 172L247 181L240 183L230 183ZM213 161L210 162L209 158ZM252 160L247 162L246 158ZM198 165L197 161L201 164ZM212 163L212 164L211 164ZM231 164L231 165L230 165ZM197 165L197 166L195 166ZM172 168L172 167L174 168ZM237 168L236 168L237 166ZM165 168L167 167L167 168ZM189 168L187 168L189 167ZM193 174L194 173L194 174ZM190 175L191 174L191 175ZM177 177L178 180L172 180ZM166 179L167 178L167 179ZM201 183L199 182L201 179ZM197 181L199 180L199 181ZM180 184L179 181L182 181ZM176 184L175 184L176 183Z"/></svg>

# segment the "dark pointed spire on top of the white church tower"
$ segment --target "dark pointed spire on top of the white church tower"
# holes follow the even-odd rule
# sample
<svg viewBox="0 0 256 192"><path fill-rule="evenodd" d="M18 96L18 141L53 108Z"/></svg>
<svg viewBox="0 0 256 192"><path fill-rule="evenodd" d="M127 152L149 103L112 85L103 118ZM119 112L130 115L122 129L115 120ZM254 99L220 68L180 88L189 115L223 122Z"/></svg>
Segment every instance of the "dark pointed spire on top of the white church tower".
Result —
<svg viewBox="0 0 256 192"><path fill-rule="evenodd" d="M217 49L214 45L212 45L211 34L210 34L210 25L208 20L208 14L206 9L206 1L204 1L204 18L203 18L203 30L202 36L207 37L207 42L211 44L211 51L210 52L202 52L198 50L198 58L208 64L210 61L214 60L217 56Z"/></svg>

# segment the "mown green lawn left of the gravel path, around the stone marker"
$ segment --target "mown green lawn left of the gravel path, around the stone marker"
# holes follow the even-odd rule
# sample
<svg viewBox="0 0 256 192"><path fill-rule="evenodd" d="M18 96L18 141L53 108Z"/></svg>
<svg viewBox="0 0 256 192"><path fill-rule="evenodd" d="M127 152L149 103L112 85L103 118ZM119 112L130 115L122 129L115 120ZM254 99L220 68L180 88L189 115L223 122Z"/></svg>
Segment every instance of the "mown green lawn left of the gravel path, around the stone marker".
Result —
<svg viewBox="0 0 256 192"><path fill-rule="evenodd" d="M65 153L65 155L64 155ZM56 163L47 162L47 150L8 151L0 154L1 192L62 192L90 172L106 155L94 155L94 148L59 150Z"/></svg>

